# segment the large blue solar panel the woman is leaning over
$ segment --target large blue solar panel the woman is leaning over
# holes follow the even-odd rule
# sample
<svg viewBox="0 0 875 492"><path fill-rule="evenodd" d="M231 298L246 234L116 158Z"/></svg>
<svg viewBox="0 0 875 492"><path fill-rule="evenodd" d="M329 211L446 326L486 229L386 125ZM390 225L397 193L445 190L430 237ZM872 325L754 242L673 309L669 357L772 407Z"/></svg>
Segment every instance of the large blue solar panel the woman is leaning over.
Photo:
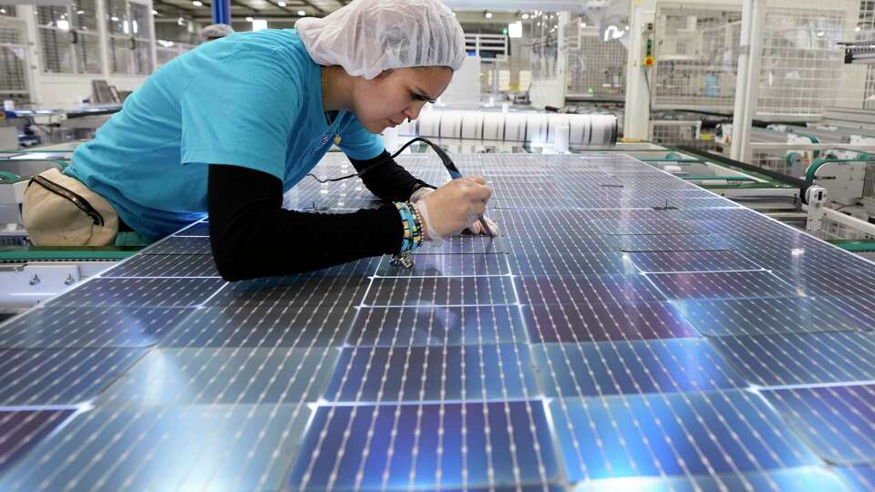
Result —
<svg viewBox="0 0 875 492"><path fill-rule="evenodd" d="M456 159L501 237L229 283L200 222L0 325L0 490L875 489L875 264L620 154Z"/></svg>

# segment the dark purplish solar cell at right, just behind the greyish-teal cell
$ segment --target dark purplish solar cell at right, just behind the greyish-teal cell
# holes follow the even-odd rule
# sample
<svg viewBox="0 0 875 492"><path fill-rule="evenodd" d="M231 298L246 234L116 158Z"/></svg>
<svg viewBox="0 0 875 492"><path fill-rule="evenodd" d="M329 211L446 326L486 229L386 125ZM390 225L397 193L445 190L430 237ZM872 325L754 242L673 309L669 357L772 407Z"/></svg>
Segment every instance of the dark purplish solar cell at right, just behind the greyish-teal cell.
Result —
<svg viewBox="0 0 875 492"><path fill-rule="evenodd" d="M675 301L791 297L798 293L766 271L647 273L647 278Z"/></svg>

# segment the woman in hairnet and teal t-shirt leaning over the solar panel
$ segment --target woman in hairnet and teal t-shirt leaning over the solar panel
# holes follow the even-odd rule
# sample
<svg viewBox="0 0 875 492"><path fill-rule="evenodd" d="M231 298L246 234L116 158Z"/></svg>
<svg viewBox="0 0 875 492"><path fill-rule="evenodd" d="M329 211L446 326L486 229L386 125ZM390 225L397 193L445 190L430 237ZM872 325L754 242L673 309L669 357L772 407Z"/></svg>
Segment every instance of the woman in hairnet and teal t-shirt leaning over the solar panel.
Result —
<svg viewBox="0 0 875 492"><path fill-rule="evenodd" d="M295 27L237 33L156 71L63 175L28 185L32 240L157 238L208 214L216 265L236 281L412 251L465 228L497 233L477 221L491 193L483 179L433 190L391 160L361 174L388 201L376 210L281 208L333 142L359 171L387 159L376 134L417 118L466 56L439 0L356 0ZM78 215L60 219L64 206Z"/></svg>

